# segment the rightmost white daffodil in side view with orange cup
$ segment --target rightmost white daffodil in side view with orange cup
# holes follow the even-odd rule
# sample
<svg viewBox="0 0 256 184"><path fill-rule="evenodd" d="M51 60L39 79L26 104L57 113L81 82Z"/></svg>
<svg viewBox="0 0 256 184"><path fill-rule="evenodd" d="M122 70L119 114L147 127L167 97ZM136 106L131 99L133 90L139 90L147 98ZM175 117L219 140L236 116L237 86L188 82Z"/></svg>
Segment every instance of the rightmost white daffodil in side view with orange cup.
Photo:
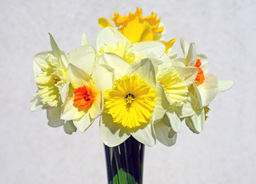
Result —
<svg viewBox="0 0 256 184"><path fill-rule="evenodd" d="M185 118L185 122L194 133L200 133L204 127L208 105L217 96L219 91L230 89L233 81L218 80L213 74L208 74L209 63L204 54L197 54L194 43L188 44L185 38L181 38L181 48L185 55L185 60L174 61L175 64L187 67L198 67L198 75L194 84L190 88L190 104L194 114Z"/></svg>

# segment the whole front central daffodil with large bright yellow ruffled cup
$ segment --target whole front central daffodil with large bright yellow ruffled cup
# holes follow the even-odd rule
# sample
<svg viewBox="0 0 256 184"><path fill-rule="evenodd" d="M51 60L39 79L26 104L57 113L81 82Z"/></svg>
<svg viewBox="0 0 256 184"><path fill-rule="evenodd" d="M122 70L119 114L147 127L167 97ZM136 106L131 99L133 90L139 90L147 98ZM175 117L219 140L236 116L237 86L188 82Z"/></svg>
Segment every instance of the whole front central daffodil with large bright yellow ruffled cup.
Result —
<svg viewBox="0 0 256 184"><path fill-rule="evenodd" d="M161 120L170 102L165 90L155 80L150 59L130 64L116 54L106 53L98 64L113 68L115 82L105 91L105 106L100 121L101 140L117 146L135 137L148 146L155 145L153 123Z"/></svg>

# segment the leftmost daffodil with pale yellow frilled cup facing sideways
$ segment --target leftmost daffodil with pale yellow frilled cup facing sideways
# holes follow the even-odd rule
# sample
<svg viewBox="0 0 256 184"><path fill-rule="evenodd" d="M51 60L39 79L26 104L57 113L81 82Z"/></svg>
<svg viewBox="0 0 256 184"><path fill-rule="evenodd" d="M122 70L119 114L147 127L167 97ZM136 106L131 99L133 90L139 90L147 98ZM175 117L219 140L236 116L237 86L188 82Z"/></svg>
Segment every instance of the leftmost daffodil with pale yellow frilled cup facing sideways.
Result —
<svg viewBox="0 0 256 184"><path fill-rule="evenodd" d="M50 41L52 51L36 54L33 60L38 91L32 97L31 110L46 109L48 125L52 127L64 125L65 132L71 134L76 130L73 123L60 119L62 104L68 94L69 83L66 80L68 58L65 52L58 48L52 35Z"/></svg>

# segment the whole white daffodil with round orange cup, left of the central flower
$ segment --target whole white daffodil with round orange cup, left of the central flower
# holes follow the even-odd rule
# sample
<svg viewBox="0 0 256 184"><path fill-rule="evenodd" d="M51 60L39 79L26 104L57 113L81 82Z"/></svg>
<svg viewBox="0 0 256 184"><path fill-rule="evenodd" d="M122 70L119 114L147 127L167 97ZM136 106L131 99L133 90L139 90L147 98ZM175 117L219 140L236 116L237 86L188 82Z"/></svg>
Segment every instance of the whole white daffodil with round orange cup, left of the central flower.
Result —
<svg viewBox="0 0 256 184"><path fill-rule="evenodd" d="M113 81L111 70L95 67L95 50L88 48L81 46L68 54L78 67L68 64L68 80L74 90L62 110L62 120L72 120L81 132L101 114L101 91Z"/></svg>

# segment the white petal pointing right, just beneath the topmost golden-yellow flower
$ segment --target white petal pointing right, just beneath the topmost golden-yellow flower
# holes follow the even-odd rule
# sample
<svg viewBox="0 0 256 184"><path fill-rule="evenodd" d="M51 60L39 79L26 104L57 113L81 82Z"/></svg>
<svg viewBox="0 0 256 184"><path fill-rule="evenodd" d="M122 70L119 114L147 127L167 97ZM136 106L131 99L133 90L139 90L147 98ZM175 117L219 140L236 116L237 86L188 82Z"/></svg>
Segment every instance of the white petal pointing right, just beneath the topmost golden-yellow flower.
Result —
<svg viewBox="0 0 256 184"><path fill-rule="evenodd" d="M139 51L145 54L155 54L159 58L165 54L165 44L161 41L141 41L133 44L135 51Z"/></svg>

